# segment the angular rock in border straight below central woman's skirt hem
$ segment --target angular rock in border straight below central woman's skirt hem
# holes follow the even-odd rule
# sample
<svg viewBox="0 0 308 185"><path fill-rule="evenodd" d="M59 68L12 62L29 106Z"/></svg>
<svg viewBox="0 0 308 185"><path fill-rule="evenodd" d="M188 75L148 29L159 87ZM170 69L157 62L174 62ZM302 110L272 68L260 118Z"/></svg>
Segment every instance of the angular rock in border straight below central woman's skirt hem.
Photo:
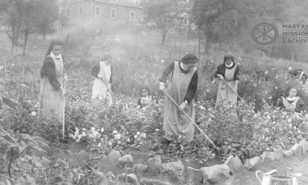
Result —
<svg viewBox="0 0 308 185"><path fill-rule="evenodd" d="M162 174L167 174L172 181L183 181L183 171L184 165L181 160L162 164Z"/></svg>

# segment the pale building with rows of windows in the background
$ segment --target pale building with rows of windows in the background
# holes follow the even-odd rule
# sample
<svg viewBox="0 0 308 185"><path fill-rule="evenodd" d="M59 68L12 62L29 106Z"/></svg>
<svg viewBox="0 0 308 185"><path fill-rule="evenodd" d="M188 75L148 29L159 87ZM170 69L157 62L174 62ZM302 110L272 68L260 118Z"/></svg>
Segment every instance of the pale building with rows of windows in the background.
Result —
<svg viewBox="0 0 308 185"><path fill-rule="evenodd" d="M59 13L73 25L137 25L142 7L132 0L59 0Z"/></svg>

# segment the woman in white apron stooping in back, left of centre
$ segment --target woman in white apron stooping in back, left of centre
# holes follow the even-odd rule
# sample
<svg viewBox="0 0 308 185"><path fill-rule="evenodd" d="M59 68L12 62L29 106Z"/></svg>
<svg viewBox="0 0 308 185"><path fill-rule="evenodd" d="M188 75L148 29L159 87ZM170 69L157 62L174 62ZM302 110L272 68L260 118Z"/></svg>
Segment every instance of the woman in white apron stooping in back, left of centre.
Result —
<svg viewBox="0 0 308 185"><path fill-rule="evenodd" d="M111 83L112 83L112 68L111 68L111 55L105 55L102 60L93 67L91 74L95 77L93 90L92 90L92 100L107 99L109 101L109 106L112 104L111 96Z"/></svg>

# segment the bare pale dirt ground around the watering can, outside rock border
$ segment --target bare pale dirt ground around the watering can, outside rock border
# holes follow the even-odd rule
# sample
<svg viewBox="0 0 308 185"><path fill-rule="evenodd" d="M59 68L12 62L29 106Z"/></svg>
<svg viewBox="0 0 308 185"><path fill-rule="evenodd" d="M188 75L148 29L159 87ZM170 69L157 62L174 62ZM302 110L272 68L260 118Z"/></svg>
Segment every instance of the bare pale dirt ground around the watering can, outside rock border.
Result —
<svg viewBox="0 0 308 185"><path fill-rule="evenodd" d="M272 163L264 163L258 170L262 172L268 172L269 170L278 170L277 174L285 174L286 167L293 168L293 173L302 173L302 176L298 178L298 185L308 184L308 156L305 156L302 160L299 158L282 158L279 161ZM230 179L225 181L221 185L261 185L258 179L255 177L255 171L244 171L238 174L232 175Z"/></svg>

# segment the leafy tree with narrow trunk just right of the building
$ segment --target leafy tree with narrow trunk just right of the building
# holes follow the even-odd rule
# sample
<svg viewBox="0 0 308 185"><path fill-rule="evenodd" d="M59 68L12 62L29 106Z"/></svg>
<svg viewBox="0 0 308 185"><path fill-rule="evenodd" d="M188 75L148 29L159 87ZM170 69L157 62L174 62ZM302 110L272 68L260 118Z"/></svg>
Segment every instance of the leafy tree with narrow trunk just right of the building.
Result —
<svg viewBox="0 0 308 185"><path fill-rule="evenodd" d="M168 32L175 27L175 19L179 13L178 0L141 1L147 13L146 22L155 22L165 43Z"/></svg>

